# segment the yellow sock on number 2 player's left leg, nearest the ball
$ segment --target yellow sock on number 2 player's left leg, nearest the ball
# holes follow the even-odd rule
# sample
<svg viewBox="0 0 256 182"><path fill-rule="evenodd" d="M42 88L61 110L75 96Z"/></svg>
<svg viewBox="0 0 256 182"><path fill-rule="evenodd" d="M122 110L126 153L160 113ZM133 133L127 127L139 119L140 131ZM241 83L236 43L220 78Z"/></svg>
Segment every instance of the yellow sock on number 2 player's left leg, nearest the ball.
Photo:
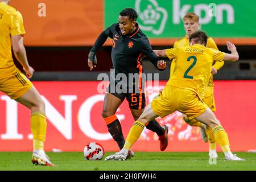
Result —
<svg viewBox="0 0 256 182"><path fill-rule="evenodd" d="M125 146L123 148L125 148L126 150L130 150L131 146L133 146L133 144L138 140L139 136L141 136L144 126L144 123L140 121L135 121L133 123L129 134L127 135Z"/></svg>

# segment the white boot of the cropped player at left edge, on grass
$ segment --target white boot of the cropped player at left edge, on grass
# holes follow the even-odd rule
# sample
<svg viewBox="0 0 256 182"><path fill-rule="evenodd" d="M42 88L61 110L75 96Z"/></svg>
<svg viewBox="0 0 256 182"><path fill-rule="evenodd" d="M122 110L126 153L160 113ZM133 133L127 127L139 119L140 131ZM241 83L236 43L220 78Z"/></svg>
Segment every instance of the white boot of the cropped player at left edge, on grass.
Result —
<svg viewBox="0 0 256 182"><path fill-rule="evenodd" d="M55 166L54 164L51 163L49 157L46 155L46 152L44 152L43 150L34 151L32 154L31 162L36 165Z"/></svg>

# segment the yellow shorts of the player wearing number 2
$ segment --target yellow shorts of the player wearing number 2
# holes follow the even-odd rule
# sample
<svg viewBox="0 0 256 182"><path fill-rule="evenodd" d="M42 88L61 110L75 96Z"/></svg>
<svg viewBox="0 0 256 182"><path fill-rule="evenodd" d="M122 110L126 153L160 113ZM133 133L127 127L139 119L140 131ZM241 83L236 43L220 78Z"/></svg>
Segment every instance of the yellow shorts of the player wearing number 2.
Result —
<svg viewBox="0 0 256 182"><path fill-rule="evenodd" d="M207 105L200 100L196 92L172 85L164 87L159 97L151 102L151 107L154 113L162 118L178 110L186 114L188 119L198 117L207 109Z"/></svg>

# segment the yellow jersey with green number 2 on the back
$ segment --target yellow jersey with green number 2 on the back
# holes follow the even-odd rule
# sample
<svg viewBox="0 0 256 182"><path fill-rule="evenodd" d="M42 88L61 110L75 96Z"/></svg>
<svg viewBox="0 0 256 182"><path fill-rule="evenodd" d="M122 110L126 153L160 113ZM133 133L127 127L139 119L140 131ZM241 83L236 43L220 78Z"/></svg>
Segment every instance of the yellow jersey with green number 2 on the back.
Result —
<svg viewBox="0 0 256 182"><path fill-rule="evenodd" d="M225 53L200 44L193 46L166 49L168 58L176 59L174 72L167 85L177 86L195 91L200 98L204 98L212 64L223 60Z"/></svg>

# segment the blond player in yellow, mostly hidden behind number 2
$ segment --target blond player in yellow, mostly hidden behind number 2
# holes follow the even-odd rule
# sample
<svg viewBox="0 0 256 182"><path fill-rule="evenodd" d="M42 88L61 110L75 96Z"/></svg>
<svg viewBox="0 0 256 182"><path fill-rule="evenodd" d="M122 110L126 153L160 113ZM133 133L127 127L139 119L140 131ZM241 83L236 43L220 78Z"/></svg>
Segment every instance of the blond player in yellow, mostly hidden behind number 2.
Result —
<svg viewBox="0 0 256 182"><path fill-rule="evenodd" d="M189 45L189 36L191 36L194 32L199 30L200 23L199 23L199 16L195 13L187 13L183 17L183 23L184 23L184 29L186 32L186 35L177 40L174 43L174 48L176 47L185 47ZM213 48L218 50L218 47L216 46L216 43L212 38L208 38L206 47ZM158 54L157 50L155 50L156 55ZM222 66L224 65L224 61L214 61L212 65L212 70L210 73L209 82L207 85L207 90L205 91L205 95L203 97L203 102L207 104L207 106L212 110L213 112L216 111L215 101L214 101L214 88L213 88L213 75L215 75ZM176 67L176 59L172 60L171 63L171 73L172 75L174 73ZM201 137L203 138L204 142L208 142L209 140L209 156L211 158L217 158L217 152L216 152L216 140L214 138L214 135L212 133L212 130L210 127L205 126L203 123L196 121L195 119L188 119L187 117L183 117L184 121L187 122L191 126L199 126L201 128Z"/></svg>

